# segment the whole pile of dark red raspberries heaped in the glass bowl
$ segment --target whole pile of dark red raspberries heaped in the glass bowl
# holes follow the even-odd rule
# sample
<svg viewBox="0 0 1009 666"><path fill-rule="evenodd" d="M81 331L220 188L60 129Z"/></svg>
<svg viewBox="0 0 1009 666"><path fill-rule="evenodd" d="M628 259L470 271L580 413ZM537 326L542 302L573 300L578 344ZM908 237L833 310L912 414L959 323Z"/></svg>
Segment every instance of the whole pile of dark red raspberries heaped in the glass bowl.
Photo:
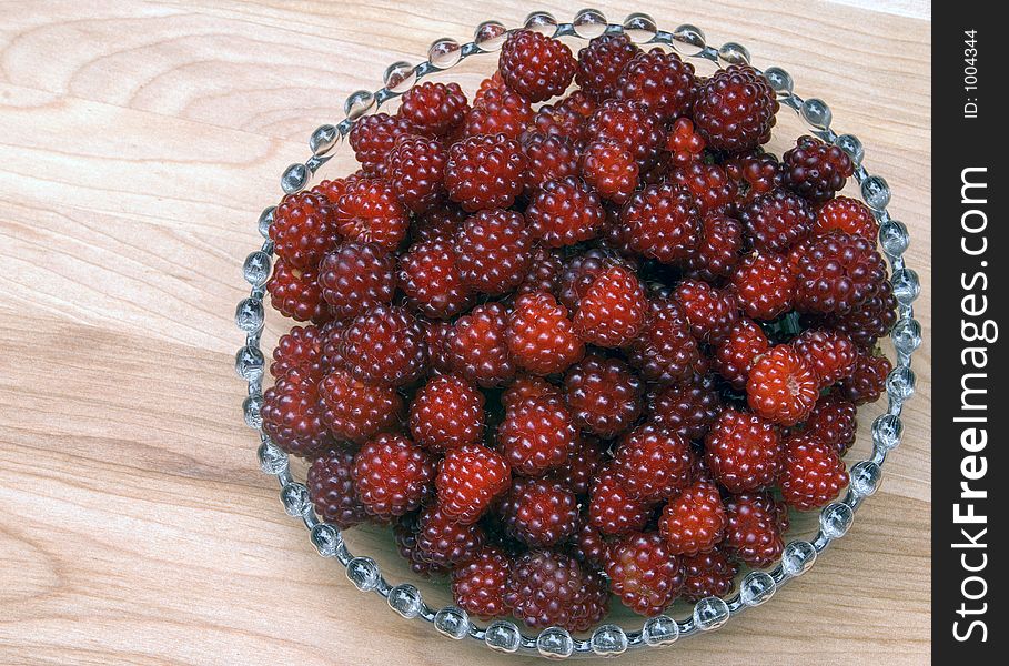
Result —
<svg viewBox="0 0 1009 666"><path fill-rule="evenodd" d="M424 82L361 119L360 170L270 228L273 306L311 323L263 427L320 516L538 628L775 563L789 509L848 484L896 319L850 159L764 152L777 111L747 65L519 30L472 100Z"/></svg>

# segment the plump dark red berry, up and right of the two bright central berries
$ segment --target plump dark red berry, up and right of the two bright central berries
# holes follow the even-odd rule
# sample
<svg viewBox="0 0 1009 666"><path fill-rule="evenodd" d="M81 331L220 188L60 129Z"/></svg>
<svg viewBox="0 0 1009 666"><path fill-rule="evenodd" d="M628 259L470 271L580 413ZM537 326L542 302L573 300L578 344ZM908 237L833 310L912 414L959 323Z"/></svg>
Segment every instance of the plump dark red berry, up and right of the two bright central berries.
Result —
<svg viewBox="0 0 1009 666"><path fill-rule="evenodd" d="M620 212L628 245L664 263L685 262L700 236L700 215L684 189L649 185L630 198Z"/></svg>

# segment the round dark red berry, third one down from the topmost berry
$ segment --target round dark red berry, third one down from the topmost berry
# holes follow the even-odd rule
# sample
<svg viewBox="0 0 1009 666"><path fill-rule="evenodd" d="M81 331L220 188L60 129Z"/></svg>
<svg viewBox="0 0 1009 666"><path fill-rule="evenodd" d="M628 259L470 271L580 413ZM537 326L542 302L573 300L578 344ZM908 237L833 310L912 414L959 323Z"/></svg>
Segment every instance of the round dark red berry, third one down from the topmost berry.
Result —
<svg viewBox="0 0 1009 666"><path fill-rule="evenodd" d="M473 213L508 208L525 186L528 158L504 134L471 137L448 150L448 196Z"/></svg>

